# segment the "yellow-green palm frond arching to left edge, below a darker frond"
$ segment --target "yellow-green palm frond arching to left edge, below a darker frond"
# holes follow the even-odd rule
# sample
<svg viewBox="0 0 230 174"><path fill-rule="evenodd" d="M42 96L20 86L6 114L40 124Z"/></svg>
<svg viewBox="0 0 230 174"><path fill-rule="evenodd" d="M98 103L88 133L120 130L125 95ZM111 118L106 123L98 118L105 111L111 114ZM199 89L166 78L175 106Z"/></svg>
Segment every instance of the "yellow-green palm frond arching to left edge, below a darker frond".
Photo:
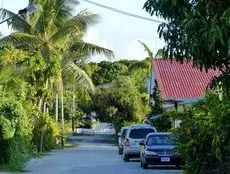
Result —
<svg viewBox="0 0 230 174"><path fill-rule="evenodd" d="M0 39L0 45L12 45L16 48L37 48L42 41L34 35L15 32Z"/></svg>

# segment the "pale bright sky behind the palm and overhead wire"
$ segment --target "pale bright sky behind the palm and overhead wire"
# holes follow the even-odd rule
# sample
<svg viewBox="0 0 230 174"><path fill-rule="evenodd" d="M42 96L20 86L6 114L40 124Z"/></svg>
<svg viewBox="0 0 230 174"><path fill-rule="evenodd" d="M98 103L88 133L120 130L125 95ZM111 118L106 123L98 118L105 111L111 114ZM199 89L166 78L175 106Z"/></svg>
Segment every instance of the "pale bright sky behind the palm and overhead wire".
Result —
<svg viewBox="0 0 230 174"><path fill-rule="evenodd" d="M144 51L144 48L138 40L146 43L154 54L157 50L163 48L164 41L159 39L157 34L158 23L125 16L82 0L79 1L80 5L76 7L75 14L87 9L91 13L100 15L100 22L90 27L84 36L84 40L113 50L115 53L113 61L121 59L145 59L148 54ZM158 19L157 17L151 17L142 9L146 0L91 1L143 17ZM28 5L28 0L0 0L0 5L2 5L3 8L17 13L19 9L23 9ZM10 33L10 30L6 24L1 24L0 32L3 35L7 35ZM90 58L92 62L100 62L102 60L108 59L101 55Z"/></svg>

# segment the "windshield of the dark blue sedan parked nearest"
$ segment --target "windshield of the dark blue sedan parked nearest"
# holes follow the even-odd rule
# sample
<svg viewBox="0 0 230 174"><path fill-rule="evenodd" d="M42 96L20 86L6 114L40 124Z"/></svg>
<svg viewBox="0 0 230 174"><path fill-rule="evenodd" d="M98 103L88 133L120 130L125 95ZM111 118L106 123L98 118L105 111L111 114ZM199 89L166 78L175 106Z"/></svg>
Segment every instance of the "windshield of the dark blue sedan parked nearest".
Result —
<svg viewBox="0 0 230 174"><path fill-rule="evenodd" d="M148 138L146 144L154 145L176 145L176 137L173 135L152 135Z"/></svg>

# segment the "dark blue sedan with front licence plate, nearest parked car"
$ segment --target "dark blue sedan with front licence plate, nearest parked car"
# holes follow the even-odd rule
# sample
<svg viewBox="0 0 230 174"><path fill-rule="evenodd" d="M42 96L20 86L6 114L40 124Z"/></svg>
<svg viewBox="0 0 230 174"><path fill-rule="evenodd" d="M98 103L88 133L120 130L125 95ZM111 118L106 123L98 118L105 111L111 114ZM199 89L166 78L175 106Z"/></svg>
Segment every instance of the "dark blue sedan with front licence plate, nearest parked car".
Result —
<svg viewBox="0 0 230 174"><path fill-rule="evenodd" d="M151 165L176 165L180 167L182 157L173 151L176 138L170 133L151 133L145 140L140 142L140 165L143 169L148 169Z"/></svg>

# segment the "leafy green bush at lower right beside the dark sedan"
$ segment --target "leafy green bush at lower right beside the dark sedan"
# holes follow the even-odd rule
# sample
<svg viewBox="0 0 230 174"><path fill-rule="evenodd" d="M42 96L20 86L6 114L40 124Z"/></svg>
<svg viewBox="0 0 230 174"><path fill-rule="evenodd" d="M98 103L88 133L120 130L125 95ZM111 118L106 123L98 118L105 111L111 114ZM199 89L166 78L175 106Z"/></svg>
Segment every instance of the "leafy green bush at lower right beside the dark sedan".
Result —
<svg viewBox="0 0 230 174"><path fill-rule="evenodd" d="M191 111L171 115L182 120L175 133L185 173L229 173L229 100L220 102L216 95L207 94Z"/></svg>

